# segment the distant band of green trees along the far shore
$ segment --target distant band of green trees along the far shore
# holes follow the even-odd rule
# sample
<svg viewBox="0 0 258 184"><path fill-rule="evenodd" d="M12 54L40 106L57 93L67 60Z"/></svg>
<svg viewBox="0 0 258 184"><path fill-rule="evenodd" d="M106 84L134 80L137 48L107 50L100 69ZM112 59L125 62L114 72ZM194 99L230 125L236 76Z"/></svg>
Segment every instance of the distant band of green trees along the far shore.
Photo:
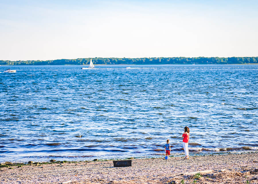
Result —
<svg viewBox="0 0 258 184"><path fill-rule="evenodd" d="M0 65L87 65L91 58L61 59L61 60L30 60L9 61L0 60ZM258 57L231 58L92 58L93 64L255 64Z"/></svg>

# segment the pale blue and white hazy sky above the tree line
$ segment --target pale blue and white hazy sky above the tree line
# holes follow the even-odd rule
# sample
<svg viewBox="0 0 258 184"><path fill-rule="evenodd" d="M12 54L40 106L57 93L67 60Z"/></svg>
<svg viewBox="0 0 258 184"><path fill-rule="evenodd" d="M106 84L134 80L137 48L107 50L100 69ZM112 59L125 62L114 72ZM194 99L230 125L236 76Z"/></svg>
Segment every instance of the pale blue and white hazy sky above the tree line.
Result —
<svg viewBox="0 0 258 184"><path fill-rule="evenodd" d="M0 0L0 60L258 56L258 1Z"/></svg>

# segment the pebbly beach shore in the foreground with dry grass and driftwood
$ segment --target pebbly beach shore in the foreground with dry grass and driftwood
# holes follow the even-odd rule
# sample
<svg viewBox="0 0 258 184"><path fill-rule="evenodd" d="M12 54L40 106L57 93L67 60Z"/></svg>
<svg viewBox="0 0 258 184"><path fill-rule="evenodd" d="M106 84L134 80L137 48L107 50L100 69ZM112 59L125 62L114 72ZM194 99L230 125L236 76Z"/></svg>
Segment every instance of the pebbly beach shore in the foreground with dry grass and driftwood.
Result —
<svg viewBox="0 0 258 184"><path fill-rule="evenodd" d="M0 183L258 183L257 156L254 152L189 160L133 159L132 167L113 167L112 161L5 164Z"/></svg>

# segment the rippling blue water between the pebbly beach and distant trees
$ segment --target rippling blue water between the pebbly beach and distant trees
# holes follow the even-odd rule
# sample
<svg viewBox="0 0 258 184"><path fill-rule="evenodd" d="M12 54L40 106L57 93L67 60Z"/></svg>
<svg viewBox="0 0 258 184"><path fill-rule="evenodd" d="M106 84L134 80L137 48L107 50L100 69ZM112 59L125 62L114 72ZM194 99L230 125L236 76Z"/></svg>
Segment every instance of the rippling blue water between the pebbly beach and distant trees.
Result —
<svg viewBox="0 0 258 184"><path fill-rule="evenodd" d="M0 162L258 150L258 65L81 67L0 66Z"/></svg>

